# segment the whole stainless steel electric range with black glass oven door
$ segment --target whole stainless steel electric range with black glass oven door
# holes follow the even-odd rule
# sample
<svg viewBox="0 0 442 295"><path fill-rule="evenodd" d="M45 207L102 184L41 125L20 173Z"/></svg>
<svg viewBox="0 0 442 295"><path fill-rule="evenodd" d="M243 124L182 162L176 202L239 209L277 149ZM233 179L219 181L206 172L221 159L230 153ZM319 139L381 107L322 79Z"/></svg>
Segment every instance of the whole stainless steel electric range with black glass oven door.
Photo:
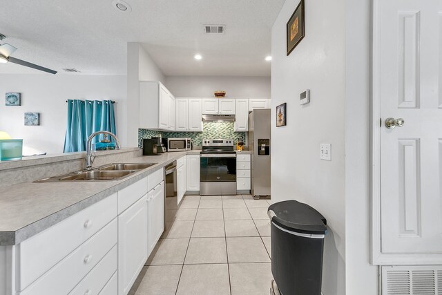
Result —
<svg viewBox="0 0 442 295"><path fill-rule="evenodd" d="M202 140L201 195L236 195L236 152L233 140Z"/></svg>

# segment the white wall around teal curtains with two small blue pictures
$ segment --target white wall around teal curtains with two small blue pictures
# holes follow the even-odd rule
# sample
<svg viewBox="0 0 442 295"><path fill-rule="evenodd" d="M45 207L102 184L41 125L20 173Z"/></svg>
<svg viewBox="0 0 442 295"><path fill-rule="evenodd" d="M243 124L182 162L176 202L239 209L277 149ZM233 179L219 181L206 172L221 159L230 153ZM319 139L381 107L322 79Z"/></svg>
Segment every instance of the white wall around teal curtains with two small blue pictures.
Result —
<svg viewBox="0 0 442 295"><path fill-rule="evenodd" d="M126 76L0 74L0 130L23 139L23 154L62 153L66 99L115 100L117 135L126 146ZM21 106L5 106L5 93L21 93ZM24 126L24 113L40 113L40 126Z"/></svg>

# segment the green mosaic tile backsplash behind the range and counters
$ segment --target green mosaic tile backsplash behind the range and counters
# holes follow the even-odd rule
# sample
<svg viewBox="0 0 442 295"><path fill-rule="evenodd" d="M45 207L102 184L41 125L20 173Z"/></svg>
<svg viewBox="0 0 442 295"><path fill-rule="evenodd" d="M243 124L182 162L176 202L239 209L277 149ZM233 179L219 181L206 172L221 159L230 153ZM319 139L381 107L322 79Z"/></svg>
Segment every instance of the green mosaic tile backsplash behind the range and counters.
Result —
<svg viewBox="0 0 442 295"><path fill-rule="evenodd" d="M204 122L202 132L164 132L149 129L138 129L138 146L142 148L144 138L162 135L162 137L190 137L194 146L202 145L204 138L232 138L234 142L246 142L245 132L233 131L234 122Z"/></svg>

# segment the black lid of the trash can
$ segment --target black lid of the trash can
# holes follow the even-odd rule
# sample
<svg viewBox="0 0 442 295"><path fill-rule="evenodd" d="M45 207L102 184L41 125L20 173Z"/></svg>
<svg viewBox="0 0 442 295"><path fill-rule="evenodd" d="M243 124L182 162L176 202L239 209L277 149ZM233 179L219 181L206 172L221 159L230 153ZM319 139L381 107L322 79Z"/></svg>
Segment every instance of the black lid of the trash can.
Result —
<svg viewBox="0 0 442 295"><path fill-rule="evenodd" d="M327 220L313 207L296 200L271 204L268 212L276 225L302 234L327 234Z"/></svg>

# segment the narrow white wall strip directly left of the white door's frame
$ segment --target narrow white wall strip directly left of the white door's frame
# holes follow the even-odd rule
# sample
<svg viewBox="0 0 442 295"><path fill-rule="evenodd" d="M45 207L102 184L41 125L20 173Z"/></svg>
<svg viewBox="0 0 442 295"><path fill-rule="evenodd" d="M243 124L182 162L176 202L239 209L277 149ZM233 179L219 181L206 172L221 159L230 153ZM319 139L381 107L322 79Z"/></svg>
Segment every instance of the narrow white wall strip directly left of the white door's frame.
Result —
<svg viewBox="0 0 442 295"><path fill-rule="evenodd" d="M377 294L370 265L370 0L346 1L345 269L347 294Z"/></svg>

